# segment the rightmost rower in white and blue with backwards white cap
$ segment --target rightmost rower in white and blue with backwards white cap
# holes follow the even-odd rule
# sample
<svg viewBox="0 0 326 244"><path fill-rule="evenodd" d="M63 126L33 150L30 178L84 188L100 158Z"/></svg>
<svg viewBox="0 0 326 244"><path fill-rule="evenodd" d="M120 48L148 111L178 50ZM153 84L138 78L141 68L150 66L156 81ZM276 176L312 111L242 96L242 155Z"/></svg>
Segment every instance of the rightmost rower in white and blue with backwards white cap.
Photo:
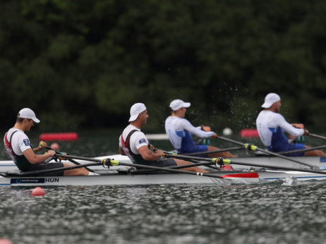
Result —
<svg viewBox="0 0 326 244"><path fill-rule="evenodd" d="M301 143L289 143L284 135L284 131L294 137L308 135L308 130L303 128L303 124L287 123L285 118L279 114L281 108L281 98L276 93L267 94L265 102L262 104L264 110L260 111L256 120L257 130L260 140L264 143L267 150L271 152L287 152L292 150L303 150L310 148ZM312 150L307 152L297 152L293 154L285 154L286 156L326 156L320 150Z"/></svg>

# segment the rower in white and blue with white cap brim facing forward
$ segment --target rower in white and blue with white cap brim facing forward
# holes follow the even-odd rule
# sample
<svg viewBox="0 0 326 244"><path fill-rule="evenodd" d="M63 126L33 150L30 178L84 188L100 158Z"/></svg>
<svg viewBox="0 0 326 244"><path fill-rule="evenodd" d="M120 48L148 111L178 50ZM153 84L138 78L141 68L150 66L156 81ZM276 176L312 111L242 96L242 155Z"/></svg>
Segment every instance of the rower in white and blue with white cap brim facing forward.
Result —
<svg viewBox="0 0 326 244"><path fill-rule="evenodd" d="M198 138L216 138L217 133L210 131L209 126L193 126L186 118L186 111L190 102L183 102L181 99L176 99L171 102L171 116L165 121L165 131L169 136L171 144L180 153L207 152L217 151L218 147L210 145L199 145L193 141L193 136ZM207 154L204 155L207 157ZM212 153L210 157L236 157L230 152Z"/></svg>

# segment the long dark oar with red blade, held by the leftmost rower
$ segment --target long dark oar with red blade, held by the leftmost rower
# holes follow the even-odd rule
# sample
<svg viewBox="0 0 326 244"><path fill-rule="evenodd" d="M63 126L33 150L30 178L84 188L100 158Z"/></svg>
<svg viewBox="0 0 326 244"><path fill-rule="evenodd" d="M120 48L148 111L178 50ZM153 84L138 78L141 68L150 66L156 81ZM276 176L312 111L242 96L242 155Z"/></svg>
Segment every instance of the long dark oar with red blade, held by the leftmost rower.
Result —
<svg viewBox="0 0 326 244"><path fill-rule="evenodd" d="M59 155L58 155L59 156ZM156 166L149 166L149 165L143 165L143 164L129 164L129 163L124 163L121 161L116 161L116 160L111 160L111 159L92 159L92 158L87 158L87 157L79 157L79 156L72 156L72 155L65 155L65 157L68 157L70 159L80 159L80 160L88 160L88 161L97 161L97 162L101 162L105 161L105 160L109 160L109 164L111 166L119 166L119 165L123 165L123 166L131 166L131 167L137 167L137 168L143 168L143 169L155 169L157 171L168 171L168 172L174 172L174 173L186 173L186 174L191 174L191 175L195 175L195 176L206 176L206 177L212 177L212 178L228 178L230 179L229 175L225 175L225 176L215 176L212 175L210 173L199 173L199 172L192 172L192 171L181 171L179 169L169 169L169 168L164 168L164 167L156 167ZM106 164L106 163L104 163ZM107 165L107 164L106 164ZM250 173L250 172L248 172ZM246 177L247 172L246 173L240 173L237 174L237 177L241 178L241 175L243 175L243 177ZM253 175L250 175L253 176ZM253 178L253 177L251 177ZM255 175L255 178L258 178L258 174Z"/></svg>

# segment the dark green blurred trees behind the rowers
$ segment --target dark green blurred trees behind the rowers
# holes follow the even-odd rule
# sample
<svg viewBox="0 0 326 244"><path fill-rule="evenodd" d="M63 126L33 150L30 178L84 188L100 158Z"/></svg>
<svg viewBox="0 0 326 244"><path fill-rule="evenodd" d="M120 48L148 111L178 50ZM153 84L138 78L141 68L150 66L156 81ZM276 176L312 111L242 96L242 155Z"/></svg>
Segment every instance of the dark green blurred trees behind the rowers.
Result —
<svg viewBox="0 0 326 244"><path fill-rule="evenodd" d="M265 95L289 121L326 124L326 4L38 0L0 3L1 125L30 107L42 130L125 126L169 102L213 128L254 128Z"/></svg>

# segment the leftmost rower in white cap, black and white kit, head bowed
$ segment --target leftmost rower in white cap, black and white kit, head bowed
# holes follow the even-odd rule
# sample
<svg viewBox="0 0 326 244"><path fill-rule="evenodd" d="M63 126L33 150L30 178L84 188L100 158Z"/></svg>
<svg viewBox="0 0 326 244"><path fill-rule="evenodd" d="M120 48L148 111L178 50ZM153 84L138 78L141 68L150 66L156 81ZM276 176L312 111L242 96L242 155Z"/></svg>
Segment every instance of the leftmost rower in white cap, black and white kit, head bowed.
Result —
<svg viewBox="0 0 326 244"><path fill-rule="evenodd" d="M72 166L71 164L56 162L44 162L54 157L56 152L49 150L45 154L35 154L40 152L47 143L41 141L38 147L32 148L30 139L25 131L30 131L34 123L40 123L32 109L21 109L18 113L16 123L13 128L9 129L4 136L4 145L6 150L20 171L39 171L43 169L57 169ZM88 172L85 168L71 169L66 171L56 171L51 173L42 173L40 176L87 176L94 173Z"/></svg>

